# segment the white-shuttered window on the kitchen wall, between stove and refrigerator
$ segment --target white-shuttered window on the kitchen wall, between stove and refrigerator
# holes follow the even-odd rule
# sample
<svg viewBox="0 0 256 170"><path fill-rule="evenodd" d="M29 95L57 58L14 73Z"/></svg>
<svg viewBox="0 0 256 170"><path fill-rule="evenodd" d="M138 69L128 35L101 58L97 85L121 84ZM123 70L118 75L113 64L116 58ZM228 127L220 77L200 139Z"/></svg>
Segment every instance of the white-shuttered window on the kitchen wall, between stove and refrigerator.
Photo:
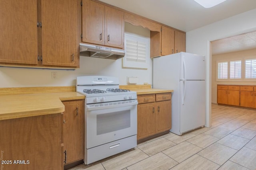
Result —
<svg viewBox="0 0 256 170"><path fill-rule="evenodd" d="M124 34L124 51L123 67L148 68L148 39Z"/></svg>

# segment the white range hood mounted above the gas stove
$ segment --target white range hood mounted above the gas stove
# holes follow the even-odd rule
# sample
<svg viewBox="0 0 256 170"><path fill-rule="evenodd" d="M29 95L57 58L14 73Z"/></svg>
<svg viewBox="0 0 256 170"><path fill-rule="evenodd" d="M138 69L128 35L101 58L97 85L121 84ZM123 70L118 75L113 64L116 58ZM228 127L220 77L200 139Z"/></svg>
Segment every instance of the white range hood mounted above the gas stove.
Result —
<svg viewBox="0 0 256 170"><path fill-rule="evenodd" d="M124 55L124 50L80 43L80 56L116 60L124 57Z"/></svg>

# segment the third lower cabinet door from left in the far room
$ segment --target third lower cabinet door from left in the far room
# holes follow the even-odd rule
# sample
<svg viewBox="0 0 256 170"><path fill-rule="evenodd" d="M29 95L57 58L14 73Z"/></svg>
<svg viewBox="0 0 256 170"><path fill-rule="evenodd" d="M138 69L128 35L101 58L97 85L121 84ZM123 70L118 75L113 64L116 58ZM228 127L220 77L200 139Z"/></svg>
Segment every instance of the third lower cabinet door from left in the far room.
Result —
<svg viewBox="0 0 256 170"><path fill-rule="evenodd" d="M254 106L254 92L241 91L240 92L240 106L253 107Z"/></svg>

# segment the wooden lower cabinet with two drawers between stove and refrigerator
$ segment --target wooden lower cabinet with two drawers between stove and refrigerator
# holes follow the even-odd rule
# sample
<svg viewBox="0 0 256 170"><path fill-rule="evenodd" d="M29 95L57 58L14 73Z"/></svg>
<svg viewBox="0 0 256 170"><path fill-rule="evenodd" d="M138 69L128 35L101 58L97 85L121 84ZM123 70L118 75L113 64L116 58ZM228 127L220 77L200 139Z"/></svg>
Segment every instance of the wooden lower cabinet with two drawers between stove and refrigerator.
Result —
<svg viewBox="0 0 256 170"><path fill-rule="evenodd" d="M171 129L171 93L138 95L138 103L137 140Z"/></svg>

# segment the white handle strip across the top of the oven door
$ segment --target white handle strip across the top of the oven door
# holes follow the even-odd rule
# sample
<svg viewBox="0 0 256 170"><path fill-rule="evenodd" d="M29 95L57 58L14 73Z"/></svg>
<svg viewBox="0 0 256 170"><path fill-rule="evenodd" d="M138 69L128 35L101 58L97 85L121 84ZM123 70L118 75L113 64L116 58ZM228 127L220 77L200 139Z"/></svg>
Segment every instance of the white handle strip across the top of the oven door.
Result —
<svg viewBox="0 0 256 170"><path fill-rule="evenodd" d="M111 109L115 107L124 107L124 106L132 106L137 105L138 100L126 100L126 101L119 101L119 102L108 102L108 103L100 103L100 104L87 104L86 110L100 110L100 109Z"/></svg>

